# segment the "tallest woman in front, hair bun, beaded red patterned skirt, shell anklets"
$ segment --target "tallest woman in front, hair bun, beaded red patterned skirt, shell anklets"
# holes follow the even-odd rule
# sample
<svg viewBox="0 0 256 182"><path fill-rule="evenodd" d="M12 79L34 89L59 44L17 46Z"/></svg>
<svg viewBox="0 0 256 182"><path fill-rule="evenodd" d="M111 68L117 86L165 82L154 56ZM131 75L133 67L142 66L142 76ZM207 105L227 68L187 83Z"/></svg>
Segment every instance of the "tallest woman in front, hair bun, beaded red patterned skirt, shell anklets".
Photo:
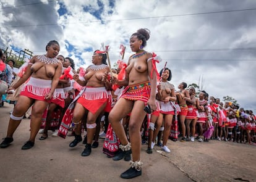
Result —
<svg viewBox="0 0 256 182"><path fill-rule="evenodd" d="M142 175L140 127L146 115L143 109L145 105L149 105L151 112L156 110L156 70L152 65L154 62L152 54L143 49L149 38L150 33L147 29L139 29L130 36L130 49L135 54L129 57L126 78L117 81L117 85L127 87L109 113L109 122L121 141L119 146L122 149L119 153L121 159L132 152L131 167L121 174L121 178ZM120 122L129 113L130 143Z"/></svg>

